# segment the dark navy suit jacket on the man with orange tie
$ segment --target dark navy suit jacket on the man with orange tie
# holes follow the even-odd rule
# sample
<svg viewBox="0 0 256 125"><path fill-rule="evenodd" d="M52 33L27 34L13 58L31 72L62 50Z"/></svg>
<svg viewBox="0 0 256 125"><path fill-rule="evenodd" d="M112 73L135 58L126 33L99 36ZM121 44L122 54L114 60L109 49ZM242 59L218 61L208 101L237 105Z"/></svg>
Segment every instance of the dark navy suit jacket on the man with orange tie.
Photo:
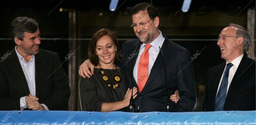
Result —
<svg viewBox="0 0 256 125"><path fill-rule="evenodd" d="M167 100L178 89L180 100L177 104L171 102L171 111L192 111L196 102L196 93L190 52L169 41L166 36L164 37L161 50L166 64L167 83L169 85L168 97L163 61L159 52L144 89L141 93L137 93L138 96L134 100L136 110L139 106L141 112L166 111ZM124 60L122 66L125 69L125 82L129 88L138 87L133 78L133 68L141 44L139 39L123 43L121 54Z"/></svg>

